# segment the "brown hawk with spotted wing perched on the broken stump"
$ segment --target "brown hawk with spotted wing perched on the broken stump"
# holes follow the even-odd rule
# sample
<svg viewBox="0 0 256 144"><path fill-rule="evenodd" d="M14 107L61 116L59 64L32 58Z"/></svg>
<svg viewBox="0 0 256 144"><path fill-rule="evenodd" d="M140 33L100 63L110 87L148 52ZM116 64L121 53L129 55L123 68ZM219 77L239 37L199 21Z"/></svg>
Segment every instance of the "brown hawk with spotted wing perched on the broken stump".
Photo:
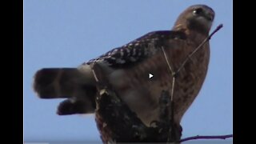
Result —
<svg viewBox="0 0 256 144"><path fill-rule="evenodd" d="M209 6L190 6L178 16L172 30L145 34L78 68L38 70L34 90L40 98L66 98L58 106L60 115L94 113L98 90L92 65L97 62L122 101L150 126L150 122L158 121L158 99L162 90L172 89L173 76L162 49L173 70L178 70L208 37L213 21L214 10ZM174 122L181 122L197 97L206 78L209 58L210 45L206 42L178 72L174 86ZM149 74L154 77L148 78Z"/></svg>

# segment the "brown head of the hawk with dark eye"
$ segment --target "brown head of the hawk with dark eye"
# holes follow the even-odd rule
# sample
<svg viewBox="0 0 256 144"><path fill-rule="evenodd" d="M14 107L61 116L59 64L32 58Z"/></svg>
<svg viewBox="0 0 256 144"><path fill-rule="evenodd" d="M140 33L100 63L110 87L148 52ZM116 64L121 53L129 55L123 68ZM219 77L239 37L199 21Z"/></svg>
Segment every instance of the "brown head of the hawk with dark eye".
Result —
<svg viewBox="0 0 256 144"><path fill-rule="evenodd" d="M179 15L174 30L196 30L202 34L209 34L213 22L214 10L206 5L194 5Z"/></svg>

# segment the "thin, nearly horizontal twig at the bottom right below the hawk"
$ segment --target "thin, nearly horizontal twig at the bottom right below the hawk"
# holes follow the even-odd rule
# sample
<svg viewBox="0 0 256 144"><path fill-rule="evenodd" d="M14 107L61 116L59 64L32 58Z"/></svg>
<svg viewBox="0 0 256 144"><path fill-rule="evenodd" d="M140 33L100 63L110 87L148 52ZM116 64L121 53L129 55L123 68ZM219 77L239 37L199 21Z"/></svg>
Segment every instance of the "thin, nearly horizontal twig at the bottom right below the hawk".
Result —
<svg viewBox="0 0 256 144"><path fill-rule="evenodd" d="M226 139L226 138L233 138L233 134L228 135L211 135L211 136L194 136L189 138L183 138L179 142L186 142L194 139Z"/></svg>

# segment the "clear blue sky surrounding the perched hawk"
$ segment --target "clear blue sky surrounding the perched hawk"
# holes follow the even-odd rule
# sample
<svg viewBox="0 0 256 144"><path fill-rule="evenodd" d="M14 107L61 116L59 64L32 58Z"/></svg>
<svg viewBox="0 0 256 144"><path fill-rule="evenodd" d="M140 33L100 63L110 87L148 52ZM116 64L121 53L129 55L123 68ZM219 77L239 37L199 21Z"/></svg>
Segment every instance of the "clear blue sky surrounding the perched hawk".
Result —
<svg viewBox="0 0 256 144"><path fill-rule="evenodd" d="M24 138L26 142L101 142L94 115L58 116L62 99L39 99L34 73L76 67L154 30L170 30L188 6L215 11L210 66L198 98L182 119L183 136L233 134L232 0L25 0Z"/></svg>

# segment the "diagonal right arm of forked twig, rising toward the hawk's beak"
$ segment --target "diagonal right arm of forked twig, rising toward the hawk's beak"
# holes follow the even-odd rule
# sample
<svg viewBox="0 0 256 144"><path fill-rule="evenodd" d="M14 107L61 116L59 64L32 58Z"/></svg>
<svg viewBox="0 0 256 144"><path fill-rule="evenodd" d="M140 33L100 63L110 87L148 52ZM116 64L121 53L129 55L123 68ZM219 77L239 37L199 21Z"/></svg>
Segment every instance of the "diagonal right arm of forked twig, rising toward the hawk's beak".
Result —
<svg viewBox="0 0 256 144"><path fill-rule="evenodd" d="M180 70L182 70L182 68L184 67L184 65L186 64L186 62L194 55L194 53L196 53L200 48L202 48L202 46L208 42L210 40L210 38L218 31L220 30L221 28L223 27L222 24L218 25L217 28L204 40L202 41L202 43L194 50L192 51L192 53L190 53L186 59L182 62L182 65L178 68L178 70L176 71L176 74L178 74L178 72Z"/></svg>

